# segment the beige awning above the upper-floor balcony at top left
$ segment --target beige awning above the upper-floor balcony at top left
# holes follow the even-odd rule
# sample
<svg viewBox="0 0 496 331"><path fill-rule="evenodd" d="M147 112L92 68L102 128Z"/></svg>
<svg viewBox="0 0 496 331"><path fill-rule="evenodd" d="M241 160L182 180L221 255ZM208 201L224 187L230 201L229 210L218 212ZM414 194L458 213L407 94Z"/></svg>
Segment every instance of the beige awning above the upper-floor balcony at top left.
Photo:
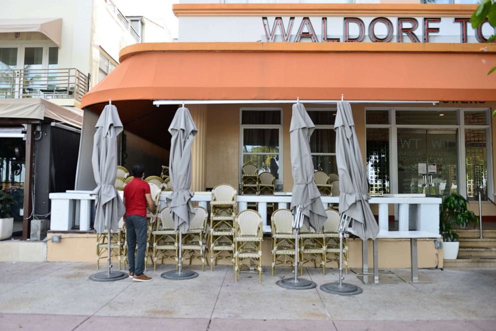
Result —
<svg viewBox="0 0 496 331"><path fill-rule="evenodd" d="M0 33L2 32L41 32L60 47L62 18L0 19Z"/></svg>

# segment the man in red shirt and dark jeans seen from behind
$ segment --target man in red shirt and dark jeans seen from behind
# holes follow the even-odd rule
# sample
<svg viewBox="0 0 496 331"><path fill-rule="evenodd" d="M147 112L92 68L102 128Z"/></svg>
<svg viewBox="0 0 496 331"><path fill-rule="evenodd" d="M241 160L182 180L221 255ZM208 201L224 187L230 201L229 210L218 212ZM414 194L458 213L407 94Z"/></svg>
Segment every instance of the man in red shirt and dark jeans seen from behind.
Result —
<svg viewBox="0 0 496 331"><path fill-rule="evenodd" d="M127 260L129 261L129 277L135 281L150 281L144 271L144 256L146 249L146 205L152 213L155 212L155 204L151 199L150 186L141 179L144 176L144 166L134 164L132 167L134 178L124 186L124 221L127 227ZM134 248L138 242L136 259L134 260Z"/></svg>

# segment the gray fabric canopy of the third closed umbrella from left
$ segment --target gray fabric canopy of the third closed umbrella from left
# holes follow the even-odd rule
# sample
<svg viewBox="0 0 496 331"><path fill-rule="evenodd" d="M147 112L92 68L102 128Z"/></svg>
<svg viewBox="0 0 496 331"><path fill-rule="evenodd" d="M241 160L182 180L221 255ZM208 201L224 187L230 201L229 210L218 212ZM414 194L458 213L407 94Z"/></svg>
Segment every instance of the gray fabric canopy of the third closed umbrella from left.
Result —
<svg viewBox="0 0 496 331"><path fill-rule="evenodd" d="M293 104L289 140L291 148L291 172L293 175L293 190L291 210L297 206L303 214L303 224L319 231L327 218L320 192L313 180L313 162L310 153L310 136L315 125L301 103Z"/></svg>

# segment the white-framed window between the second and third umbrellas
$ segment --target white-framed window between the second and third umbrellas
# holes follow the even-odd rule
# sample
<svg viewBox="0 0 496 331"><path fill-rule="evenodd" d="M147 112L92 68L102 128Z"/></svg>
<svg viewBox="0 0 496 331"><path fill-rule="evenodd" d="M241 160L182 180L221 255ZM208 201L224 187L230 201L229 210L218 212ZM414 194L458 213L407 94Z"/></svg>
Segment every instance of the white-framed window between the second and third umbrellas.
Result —
<svg viewBox="0 0 496 331"><path fill-rule="evenodd" d="M271 172L275 176L276 184L282 184L281 123L280 108L241 109L240 168L244 164L255 164L259 169L258 173Z"/></svg>

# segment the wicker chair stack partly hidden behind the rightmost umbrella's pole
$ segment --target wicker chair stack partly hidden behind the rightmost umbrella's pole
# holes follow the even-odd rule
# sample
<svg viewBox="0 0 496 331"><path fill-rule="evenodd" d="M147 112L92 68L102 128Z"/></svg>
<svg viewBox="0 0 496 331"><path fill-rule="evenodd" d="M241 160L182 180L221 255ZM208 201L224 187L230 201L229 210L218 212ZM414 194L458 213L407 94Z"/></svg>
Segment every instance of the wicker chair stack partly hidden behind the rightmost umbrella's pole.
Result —
<svg viewBox="0 0 496 331"><path fill-rule="evenodd" d="M323 247L325 249L325 262L336 261L339 264L339 212L334 209L325 210L327 219L323 225ZM348 274L348 233L343 237L343 264ZM325 272L324 272L325 273Z"/></svg>

